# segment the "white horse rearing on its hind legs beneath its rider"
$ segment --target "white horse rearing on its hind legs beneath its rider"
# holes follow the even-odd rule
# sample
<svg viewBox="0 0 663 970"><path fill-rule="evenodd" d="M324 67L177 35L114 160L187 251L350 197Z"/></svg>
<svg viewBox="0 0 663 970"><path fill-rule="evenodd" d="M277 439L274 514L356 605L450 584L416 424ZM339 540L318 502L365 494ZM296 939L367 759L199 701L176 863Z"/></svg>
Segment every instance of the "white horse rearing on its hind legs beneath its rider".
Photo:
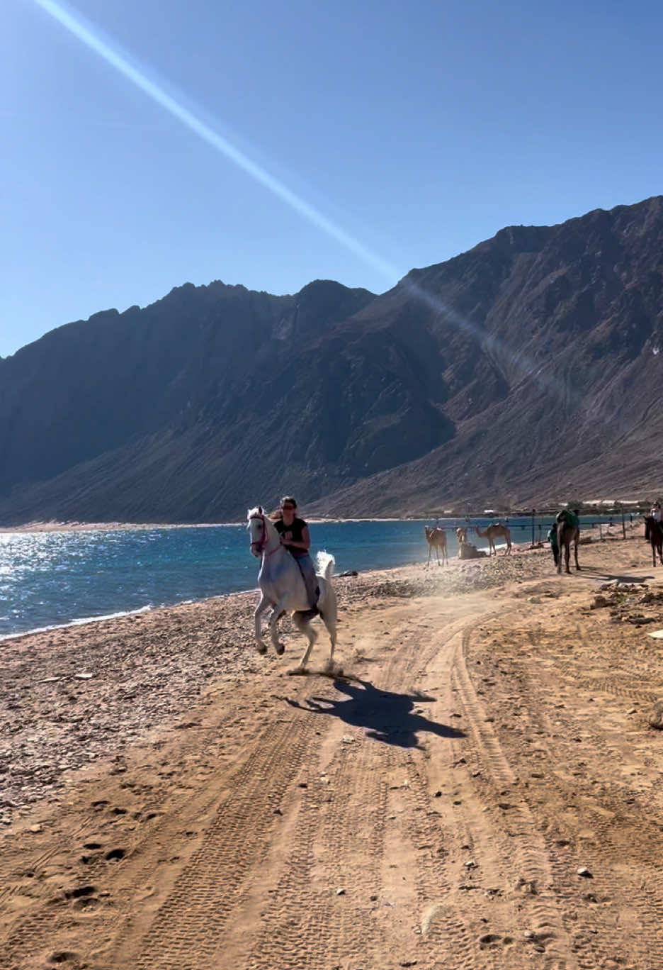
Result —
<svg viewBox="0 0 663 970"><path fill-rule="evenodd" d="M261 630L262 614L272 607L269 614L269 633L274 650L280 656L284 646L279 643L276 635L276 624L284 613L292 613L295 626L308 639L308 646L300 660L297 672L302 673L306 667L313 644L318 634L310 626L310 607L306 596L306 587L301 576L300 567L291 554L281 545L281 537L274 525L269 521L260 505L248 510L248 529L251 537L251 552L254 556L262 557L258 585L261 598L254 614L256 621L256 647L259 654L267 653L267 644L263 640ZM327 669L333 671L333 648L336 645L336 594L331 585L334 559L329 553L318 553L318 586L320 596L318 609L323 623L330 633L331 651Z"/></svg>

